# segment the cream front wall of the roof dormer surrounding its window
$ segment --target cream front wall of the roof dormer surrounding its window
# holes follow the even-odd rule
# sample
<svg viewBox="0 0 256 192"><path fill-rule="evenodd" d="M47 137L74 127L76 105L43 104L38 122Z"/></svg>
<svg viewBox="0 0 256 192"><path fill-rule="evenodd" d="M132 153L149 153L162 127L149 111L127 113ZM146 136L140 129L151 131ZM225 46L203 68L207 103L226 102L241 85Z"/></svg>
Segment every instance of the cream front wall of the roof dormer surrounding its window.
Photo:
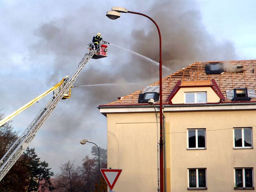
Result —
<svg viewBox="0 0 256 192"><path fill-rule="evenodd" d="M184 92L207 92L207 103L218 103L220 98L211 87L181 87L172 98L173 104L185 103Z"/></svg>

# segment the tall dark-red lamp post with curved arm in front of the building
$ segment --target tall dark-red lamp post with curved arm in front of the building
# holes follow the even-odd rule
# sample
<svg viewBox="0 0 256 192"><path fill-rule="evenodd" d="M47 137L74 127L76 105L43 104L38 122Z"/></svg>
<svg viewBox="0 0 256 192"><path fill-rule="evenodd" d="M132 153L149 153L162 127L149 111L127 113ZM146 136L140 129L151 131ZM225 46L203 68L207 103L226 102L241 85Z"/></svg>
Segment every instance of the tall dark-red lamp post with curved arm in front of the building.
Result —
<svg viewBox="0 0 256 192"><path fill-rule="evenodd" d="M118 19L121 16L121 13L132 13L137 15L142 15L144 17L147 17L149 20L151 20L157 28L158 35L159 35L159 88L160 88L160 191L164 192L164 153L163 153L163 101L162 101L162 39L161 39L161 33L158 25L156 22L149 17L148 15L145 15L143 13L139 12L132 12L128 11L127 9L123 7L112 7L111 11L108 11L106 13L106 16L109 19L115 20Z"/></svg>

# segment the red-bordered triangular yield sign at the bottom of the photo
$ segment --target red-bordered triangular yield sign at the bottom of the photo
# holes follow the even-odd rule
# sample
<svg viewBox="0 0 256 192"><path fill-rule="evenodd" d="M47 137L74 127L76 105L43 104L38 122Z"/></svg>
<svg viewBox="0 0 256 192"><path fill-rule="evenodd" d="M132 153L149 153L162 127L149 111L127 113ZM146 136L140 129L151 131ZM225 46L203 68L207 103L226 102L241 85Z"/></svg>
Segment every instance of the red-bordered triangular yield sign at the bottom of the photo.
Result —
<svg viewBox="0 0 256 192"><path fill-rule="evenodd" d="M109 189L112 190L122 172L122 169L100 169L100 172L107 182Z"/></svg>

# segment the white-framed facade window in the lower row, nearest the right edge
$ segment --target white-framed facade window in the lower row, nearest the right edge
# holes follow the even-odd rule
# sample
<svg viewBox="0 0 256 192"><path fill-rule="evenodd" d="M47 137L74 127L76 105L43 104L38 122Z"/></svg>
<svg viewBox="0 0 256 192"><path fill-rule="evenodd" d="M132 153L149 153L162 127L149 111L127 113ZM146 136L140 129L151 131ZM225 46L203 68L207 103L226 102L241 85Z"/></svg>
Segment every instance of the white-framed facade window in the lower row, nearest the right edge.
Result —
<svg viewBox="0 0 256 192"><path fill-rule="evenodd" d="M254 189L253 168L235 168L234 189Z"/></svg>

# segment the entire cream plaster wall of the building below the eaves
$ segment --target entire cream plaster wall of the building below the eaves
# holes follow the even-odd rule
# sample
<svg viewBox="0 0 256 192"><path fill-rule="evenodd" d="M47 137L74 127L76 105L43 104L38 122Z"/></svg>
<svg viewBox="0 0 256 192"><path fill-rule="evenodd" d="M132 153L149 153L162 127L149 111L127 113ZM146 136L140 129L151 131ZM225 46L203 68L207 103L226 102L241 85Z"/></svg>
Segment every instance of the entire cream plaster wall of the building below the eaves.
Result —
<svg viewBox="0 0 256 192"><path fill-rule="evenodd" d="M233 149L233 127L256 125L255 110L164 114L168 192L187 191L188 168L207 168L210 192L234 190L234 167L254 167L255 175L254 149ZM123 169L114 191L156 191L155 114L116 113L107 118L108 168ZM206 150L187 150L188 128L206 128ZM255 127L252 130L255 142Z"/></svg>

